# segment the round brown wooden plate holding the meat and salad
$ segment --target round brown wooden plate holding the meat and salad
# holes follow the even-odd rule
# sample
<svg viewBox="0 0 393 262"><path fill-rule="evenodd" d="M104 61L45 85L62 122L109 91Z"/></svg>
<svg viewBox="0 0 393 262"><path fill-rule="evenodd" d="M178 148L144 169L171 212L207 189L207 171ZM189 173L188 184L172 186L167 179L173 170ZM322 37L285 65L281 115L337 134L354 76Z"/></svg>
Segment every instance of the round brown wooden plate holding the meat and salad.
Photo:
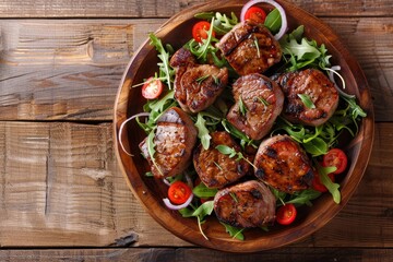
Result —
<svg viewBox="0 0 393 262"><path fill-rule="evenodd" d="M175 48L179 48L191 38L191 27L196 21L193 17L195 13L219 11L230 14L234 11L239 17L245 2L238 0L212 1L193 7L171 17L155 34L164 44L168 43ZM267 233L260 229L248 230L243 241L230 238L213 216L203 225L204 233L209 237L207 241L200 234L196 219L183 218L178 212L169 211L163 203L163 198L166 196L166 186L144 176L148 166L141 157L138 144L144 139L145 133L135 123L127 124L120 139L134 156L130 157L119 146L120 124L130 116L141 112L145 103L141 96L141 91L130 88L130 86L143 82L143 79L157 71L155 66L157 53L154 47L148 45L146 32L146 41L128 64L116 98L114 116L116 153L130 189L147 212L163 227L194 245L229 252L253 252L282 247L305 238L324 226L342 210L355 192L367 167L373 141L373 110L367 81L361 69L340 41L337 35L323 22L291 3L277 2L286 10L290 31L299 24L303 24L305 34L308 38L315 39L319 44L325 44L329 52L333 56L333 64L340 64L342 68L341 73L345 78L347 92L357 96L360 106L368 114L360 124L358 135L346 147L350 166L348 174L341 182L342 202L337 205L329 193L323 194L313 202L312 207L302 207L299 211L295 224L287 227L274 226Z"/></svg>

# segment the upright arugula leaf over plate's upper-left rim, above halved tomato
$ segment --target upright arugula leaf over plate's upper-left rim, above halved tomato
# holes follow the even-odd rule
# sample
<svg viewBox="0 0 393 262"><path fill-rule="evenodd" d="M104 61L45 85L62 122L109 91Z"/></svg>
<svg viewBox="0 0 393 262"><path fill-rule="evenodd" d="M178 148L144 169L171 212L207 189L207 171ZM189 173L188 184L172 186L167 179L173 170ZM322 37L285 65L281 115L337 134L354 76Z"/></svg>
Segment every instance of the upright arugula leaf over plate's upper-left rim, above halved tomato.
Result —
<svg viewBox="0 0 393 262"><path fill-rule="evenodd" d="M151 39L151 45L155 47L158 51L157 57L162 60L162 62L157 63L159 67L159 78L165 79L165 83L167 84L168 88L171 90L174 78L175 78L175 69L169 66L169 52L165 50L163 43L154 33L148 34ZM172 48L171 48L172 49Z"/></svg>

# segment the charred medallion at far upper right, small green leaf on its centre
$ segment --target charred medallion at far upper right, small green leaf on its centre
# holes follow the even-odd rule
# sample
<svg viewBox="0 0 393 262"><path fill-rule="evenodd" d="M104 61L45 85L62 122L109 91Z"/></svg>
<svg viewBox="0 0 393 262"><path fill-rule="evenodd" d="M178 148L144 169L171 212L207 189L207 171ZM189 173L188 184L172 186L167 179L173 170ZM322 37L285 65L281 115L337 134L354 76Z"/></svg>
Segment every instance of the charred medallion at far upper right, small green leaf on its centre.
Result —
<svg viewBox="0 0 393 262"><path fill-rule="evenodd" d="M332 117L338 105L338 93L325 74L306 69L275 76L285 94L283 115L290 122L320 126ZM301 99L309 100L306 105Z"/></svg>

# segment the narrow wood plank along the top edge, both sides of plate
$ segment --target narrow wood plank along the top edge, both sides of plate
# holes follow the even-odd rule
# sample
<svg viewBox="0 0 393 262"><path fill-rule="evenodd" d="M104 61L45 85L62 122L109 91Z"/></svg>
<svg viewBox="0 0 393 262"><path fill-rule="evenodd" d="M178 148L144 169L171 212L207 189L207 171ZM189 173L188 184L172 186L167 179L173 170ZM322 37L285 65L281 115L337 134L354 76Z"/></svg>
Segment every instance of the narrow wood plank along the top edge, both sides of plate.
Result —
<svg viewBox="0 0 393 262"><path fill-rule="evenodd" d="M393 12L389 0L288 1L319 16L389 16ZM0 2L0 17L169 17L204 2L207 0L3 0Z"/></svg>

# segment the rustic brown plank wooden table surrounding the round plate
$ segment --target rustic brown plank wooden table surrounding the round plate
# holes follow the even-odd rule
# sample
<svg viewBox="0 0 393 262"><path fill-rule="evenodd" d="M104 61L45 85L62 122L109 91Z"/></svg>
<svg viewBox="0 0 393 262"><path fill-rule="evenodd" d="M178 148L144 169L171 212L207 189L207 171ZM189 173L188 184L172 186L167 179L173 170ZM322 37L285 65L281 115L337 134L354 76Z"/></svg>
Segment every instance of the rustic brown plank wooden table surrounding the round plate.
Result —
<svg viewBox="0 0 393 262"><path fill-rule="evenodd" d="M344 210L305 240L252 254L201 249L151 218L114 152L112 108L146 33L203 0L0 2L0 261L392 261L393 2L291 0L359 61L376 139Z"/></svg>

